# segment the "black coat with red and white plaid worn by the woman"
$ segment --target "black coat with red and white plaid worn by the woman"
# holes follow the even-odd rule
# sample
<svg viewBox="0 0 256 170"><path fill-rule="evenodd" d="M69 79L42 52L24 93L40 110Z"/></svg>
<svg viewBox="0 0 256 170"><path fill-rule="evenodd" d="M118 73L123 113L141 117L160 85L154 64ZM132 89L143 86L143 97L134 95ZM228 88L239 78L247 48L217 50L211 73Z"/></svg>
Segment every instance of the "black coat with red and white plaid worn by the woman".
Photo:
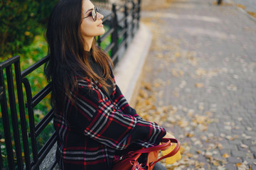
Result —
<svg viewBox="0 0 256 170"><path fill-rule="evenodd" d="M54 117L61 169L111 169L117 151L158 145L166 134L139 117L116 84L108 96L100 84L80 79L73 96L76 105L63 98L65 108Z"/></svg>

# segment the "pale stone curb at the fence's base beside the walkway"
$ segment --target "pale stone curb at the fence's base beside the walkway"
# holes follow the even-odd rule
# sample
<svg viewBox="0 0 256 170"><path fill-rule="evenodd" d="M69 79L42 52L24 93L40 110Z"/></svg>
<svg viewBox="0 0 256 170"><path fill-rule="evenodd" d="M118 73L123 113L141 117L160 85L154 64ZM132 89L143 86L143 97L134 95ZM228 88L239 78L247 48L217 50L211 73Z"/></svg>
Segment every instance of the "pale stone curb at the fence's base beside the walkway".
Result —
<svg viewBox="0 0 256 170"><path fill-rule="evenodd" d="M135 106L141 84L139 78L142 76L142 68L149 52L151 39L149 28L139 23L139 30L114 68L114 78L130 106Z"/></svg>

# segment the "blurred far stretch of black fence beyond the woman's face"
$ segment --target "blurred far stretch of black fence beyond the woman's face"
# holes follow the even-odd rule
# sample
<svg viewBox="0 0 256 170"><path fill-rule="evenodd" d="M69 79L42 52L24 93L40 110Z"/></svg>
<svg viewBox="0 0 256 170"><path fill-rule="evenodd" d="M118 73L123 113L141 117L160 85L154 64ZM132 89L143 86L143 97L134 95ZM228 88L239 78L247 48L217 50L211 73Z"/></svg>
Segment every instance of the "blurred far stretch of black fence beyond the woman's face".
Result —
<svg viewBox="0 0 256 170"><path fill-rule="evenodd" d="M131 40L139 28L141 0L127 1L123 6L112 4L112 11L107 13L103 18L103 23L107 23L110 29L97 38L97 44L101 46L102 42L111 35L111 42L105 47L106 52L110 52L112 61L115 63L119 60L119 55L123 48L127 48L127 43Z"/></svg>

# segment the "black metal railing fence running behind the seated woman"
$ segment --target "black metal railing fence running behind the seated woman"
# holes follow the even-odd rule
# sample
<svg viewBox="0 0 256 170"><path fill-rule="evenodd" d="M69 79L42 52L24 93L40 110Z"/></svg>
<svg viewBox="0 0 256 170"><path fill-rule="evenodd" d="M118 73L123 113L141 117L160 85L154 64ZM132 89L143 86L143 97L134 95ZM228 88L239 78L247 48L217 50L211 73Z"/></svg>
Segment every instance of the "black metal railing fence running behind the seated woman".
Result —
<svg viewBox="0 0 256 170"><path fill-rule="evenodd" d="M140 0L127 1L118 8L112 4L112 11L108 11L103 19L104 22L109 23L109 29L104 35L97 37L97 44L102 45L102 42L111 36L110 44L105 50L110 52L114 63L117 63L122 49L127 47L129 40L132 40L139 28L140 4ZM36 124L34 120L34 108L50 94L51 84L47 84L32 96L31 82L27 78L48 59L48 56L43 57L22 72L19 56L0 63L0 119L2 119L0 128L4 129L4 134L0 134L0 153L6 153L6 155L1 154L0 169L39 169L46 155L55 145L55 132L41 148L38 148L37 140L46 126L53 126L51 123L53 110L50 109L39 123ZM56 164L57 162L53 161L47 169L53 169Z"/></svg>

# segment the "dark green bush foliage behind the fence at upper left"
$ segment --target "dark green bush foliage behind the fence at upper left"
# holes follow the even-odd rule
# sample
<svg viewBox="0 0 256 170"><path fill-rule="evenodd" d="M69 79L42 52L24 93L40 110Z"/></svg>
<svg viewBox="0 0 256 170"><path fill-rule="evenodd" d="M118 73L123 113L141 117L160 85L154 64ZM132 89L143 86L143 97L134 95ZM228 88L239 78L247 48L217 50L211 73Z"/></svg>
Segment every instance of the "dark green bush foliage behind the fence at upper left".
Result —
<svg viewBox="0 0 256 170"><path fill-rule="evenodd" d="M57 0L0 1L0 57L14 55L46 28Z"/></svg>

